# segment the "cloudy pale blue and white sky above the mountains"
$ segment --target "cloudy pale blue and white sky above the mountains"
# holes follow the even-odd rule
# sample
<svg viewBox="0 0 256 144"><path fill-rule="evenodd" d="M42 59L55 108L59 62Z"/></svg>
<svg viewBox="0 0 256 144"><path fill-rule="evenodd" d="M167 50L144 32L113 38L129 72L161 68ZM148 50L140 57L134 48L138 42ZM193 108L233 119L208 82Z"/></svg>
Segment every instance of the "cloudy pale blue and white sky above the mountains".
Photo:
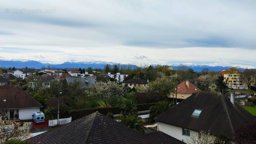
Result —
<svg viewBox="0 0 256 144"><path fill-rule="evenodd" d="M0 60L256 68L256 1L1 0Z"/></svg>

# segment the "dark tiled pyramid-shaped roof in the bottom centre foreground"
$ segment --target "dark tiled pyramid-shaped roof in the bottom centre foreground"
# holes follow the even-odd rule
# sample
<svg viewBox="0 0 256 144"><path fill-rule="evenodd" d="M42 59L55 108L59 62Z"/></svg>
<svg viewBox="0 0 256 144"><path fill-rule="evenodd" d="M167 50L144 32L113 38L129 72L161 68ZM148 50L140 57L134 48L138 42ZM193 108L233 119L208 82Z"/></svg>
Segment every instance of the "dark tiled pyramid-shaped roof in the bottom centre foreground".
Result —
<svg viewBox="0 0 256 144"><path fill-rule="evenodd" d="M140 134L95 112L51 131L28 139L38 144L73 143L183 143L163 132Z"/></svg>

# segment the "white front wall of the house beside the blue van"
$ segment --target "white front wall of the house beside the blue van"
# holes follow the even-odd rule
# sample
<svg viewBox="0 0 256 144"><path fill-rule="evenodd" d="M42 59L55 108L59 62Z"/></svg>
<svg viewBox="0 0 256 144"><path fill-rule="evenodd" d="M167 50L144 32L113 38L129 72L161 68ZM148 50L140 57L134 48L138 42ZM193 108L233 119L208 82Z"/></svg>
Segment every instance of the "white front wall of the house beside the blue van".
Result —
<svg viewBox="0 0 256 144"><path fill-rule="evenodd" d="M4 109L6 113L6 116L8 116L8 119L10 119L10 111L13 110L13 118L16 119L14 116L15 114L19 114L20 120L28 120L32 119L32 115L34 112L40 111L40 108L17 108L17 109Z"/></svg>

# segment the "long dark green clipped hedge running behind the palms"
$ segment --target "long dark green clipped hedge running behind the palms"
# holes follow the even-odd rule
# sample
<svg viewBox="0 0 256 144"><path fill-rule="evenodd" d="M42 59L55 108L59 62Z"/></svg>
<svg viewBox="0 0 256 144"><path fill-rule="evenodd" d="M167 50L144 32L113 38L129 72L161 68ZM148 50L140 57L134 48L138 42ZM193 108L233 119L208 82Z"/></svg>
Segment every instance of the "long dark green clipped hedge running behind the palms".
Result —
<svg viewBox="0 0 256 144"><path fill-rule="evenodd" d="M180 101L177 99L177 102ZM182 101L182 99L181 99ZM144 103L144 104L138 104L137 110L143 111L143 110L149 110L151 106L155 106L156 103ZM108 113L112 114L120 114L122 109L118 107L106 107L106 108L88 108L88 109L80 109L80 110L73 110L70 112L70 116L72 116L72 120L76 120L78 118L81 118L83 116L90 115L92 113L95 113L98 111L99 113L103 115L107 115Z"/></svg>

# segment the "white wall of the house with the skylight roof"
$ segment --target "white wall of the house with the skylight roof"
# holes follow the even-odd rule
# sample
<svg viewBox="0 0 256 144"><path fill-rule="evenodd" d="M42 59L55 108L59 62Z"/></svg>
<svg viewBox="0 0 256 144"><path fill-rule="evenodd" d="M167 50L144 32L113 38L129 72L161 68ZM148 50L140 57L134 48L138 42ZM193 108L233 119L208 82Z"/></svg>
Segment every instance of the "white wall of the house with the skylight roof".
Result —
<svg viewBox="0 0 256 144"><path fill-rule="evenodd" d="M157 122L157 130L164 132L180 141L183 141L185 143L189 143L189 140L191 140L190 136L191 135L198 135L197 131L189 130L190 136L183 135L183 131L181 127L174 126L171 124L165 124L161 122ZM212 136L215 138L215 136Z"/></svg>

